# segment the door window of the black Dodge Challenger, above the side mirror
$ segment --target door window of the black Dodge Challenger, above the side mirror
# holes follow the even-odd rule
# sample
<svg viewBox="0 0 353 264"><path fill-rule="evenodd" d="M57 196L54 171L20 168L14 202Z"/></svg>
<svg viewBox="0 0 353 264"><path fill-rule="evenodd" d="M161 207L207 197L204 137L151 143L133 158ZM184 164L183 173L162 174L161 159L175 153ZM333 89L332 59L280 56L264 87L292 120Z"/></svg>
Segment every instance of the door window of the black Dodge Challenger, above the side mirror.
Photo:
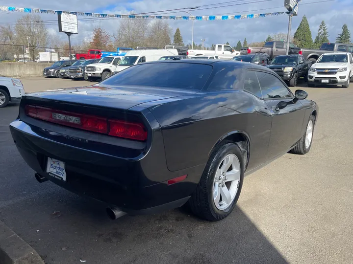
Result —
<svg viewBox="0 0 353 264"><path fill-rule="evenodd" d="M274 75L265 72L256 72L260 83L262 98L292 98L292 92Z"/></svg>

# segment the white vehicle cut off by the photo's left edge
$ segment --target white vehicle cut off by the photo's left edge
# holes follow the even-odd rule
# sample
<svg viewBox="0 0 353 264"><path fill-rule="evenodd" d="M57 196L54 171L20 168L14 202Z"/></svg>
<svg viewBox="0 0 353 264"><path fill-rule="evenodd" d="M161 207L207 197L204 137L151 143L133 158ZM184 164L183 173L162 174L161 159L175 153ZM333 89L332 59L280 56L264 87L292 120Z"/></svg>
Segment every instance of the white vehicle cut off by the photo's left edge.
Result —
<svg viewBox="0 0 353 264"><path fill-rule="evenodd" d="M20 80L0 77L0 108L7 106L9 102L19 102L24 94L25 89Z"/></svg>

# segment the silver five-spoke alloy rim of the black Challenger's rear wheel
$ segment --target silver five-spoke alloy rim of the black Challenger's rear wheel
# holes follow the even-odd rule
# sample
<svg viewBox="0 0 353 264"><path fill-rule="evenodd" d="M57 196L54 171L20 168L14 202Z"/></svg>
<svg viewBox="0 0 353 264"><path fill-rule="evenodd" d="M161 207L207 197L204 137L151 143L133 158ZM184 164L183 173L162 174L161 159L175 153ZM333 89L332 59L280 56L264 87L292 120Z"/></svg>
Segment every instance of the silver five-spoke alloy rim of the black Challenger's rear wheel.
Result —
<svg viewBox="0 0 353 264"><path fill-rule="evenodd" d="M228 154L217 167L213 182L213 202L218 210L227 209L238 193L240 162L236 155Z"/></svg>

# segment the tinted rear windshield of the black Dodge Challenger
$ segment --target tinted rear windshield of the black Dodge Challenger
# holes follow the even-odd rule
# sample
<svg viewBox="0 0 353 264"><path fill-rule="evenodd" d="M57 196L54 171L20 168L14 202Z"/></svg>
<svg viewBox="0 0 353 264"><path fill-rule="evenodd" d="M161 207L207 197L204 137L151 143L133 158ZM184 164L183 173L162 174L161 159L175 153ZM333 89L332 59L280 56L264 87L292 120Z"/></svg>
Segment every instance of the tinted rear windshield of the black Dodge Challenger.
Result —
<svg viewBox="0 0 353 264"><path fill-rule="evenodd" d="M118 72L101 84L201 90L211 71L212 66L210 65L194 63L141 64Z"/></svg>

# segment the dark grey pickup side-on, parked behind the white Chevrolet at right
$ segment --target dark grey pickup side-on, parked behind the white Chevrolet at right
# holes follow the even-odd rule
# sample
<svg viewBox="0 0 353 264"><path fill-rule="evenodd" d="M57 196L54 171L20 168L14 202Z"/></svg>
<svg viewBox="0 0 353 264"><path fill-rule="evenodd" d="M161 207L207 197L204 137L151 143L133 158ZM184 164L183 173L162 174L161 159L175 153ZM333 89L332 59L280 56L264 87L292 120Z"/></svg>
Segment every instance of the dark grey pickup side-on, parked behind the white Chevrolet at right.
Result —
<svg viewBox="0 0 353 264"><path fill-rule="evenodd" d="M323 43L319 49L302 48L302 52L305 60L314 64L324 53L351 52L353 54L353 45L342 43Z"/></svg>

